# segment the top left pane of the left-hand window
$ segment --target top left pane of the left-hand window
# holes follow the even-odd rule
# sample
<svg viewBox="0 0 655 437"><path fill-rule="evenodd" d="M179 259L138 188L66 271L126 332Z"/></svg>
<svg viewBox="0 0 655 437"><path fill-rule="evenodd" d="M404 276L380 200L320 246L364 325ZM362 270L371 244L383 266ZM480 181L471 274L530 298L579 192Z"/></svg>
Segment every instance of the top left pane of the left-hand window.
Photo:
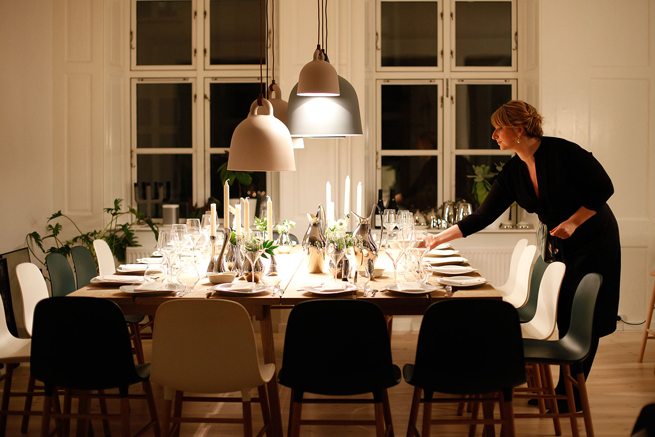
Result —
<svg viewBox="0 0 655 437"><path fill-rule="evenodd" d="M191 1L136 2L136 64L190 66Z"/></svg>

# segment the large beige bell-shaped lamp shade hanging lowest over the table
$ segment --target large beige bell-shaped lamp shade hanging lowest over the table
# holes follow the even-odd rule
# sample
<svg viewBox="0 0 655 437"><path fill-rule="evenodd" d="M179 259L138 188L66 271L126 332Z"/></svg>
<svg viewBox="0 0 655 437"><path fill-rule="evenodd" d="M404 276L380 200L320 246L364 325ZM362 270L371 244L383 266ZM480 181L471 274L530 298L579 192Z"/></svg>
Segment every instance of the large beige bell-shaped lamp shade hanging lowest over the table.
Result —
<svg viewBox="0 0 655 437"><path fill-rule="evenodd" d="M269 100L250 105L248 117L236 126L227 159L228 170L277 172L295 170L293 143L289 129L274 117ZM261 113L257 113L259 108Z"/></svg>

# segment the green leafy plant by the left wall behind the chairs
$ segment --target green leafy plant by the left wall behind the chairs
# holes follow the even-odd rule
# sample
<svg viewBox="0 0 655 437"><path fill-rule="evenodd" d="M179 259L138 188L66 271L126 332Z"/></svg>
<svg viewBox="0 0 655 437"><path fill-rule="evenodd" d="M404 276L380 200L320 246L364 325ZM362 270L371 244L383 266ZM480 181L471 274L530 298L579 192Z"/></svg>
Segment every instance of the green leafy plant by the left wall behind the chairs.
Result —
<svg viewBox="0 0 655 437"><path fill-rule="evenodd" d="M134 226L146 223L150 227L151 231L153 231L155 234L155 238L158 236L159 228L157 225L155 225L155 223L153 223L152 219L144 217L143 214L131 206L128 206L127 211L122 211L121 203L122 199L114 199L113 206L110 206L109 208L103 208L103 211L111 216L109 223L107 223L103 229L88 231L86 233L81 231L73 219L69 218L65 214L62 214L62 211L59 210L52 214L52 216L50 216L47 220L48 224L46 229L48 231L48 235L41 237L37 231L33 231L26 235L26 245L28 246L31 254L36 259L38 259L41 264L45 265L44 261L42 261L41 258L35 254L32 246L39 248L43 254L60 253L68 257L71 254L71 248L78 245L86 246L89 248L89 250L91 250L91 252L94 252L93 240L102 239L105 240L107 244L109 244L109 248L111 248L111 252L114 254L114 256L119 261L123 262L125 261L125 252L128 247L140 246L136 235L134 235ZM131 214L134 216L134 219L127 223L119 223L119 218L125 214ZM77 229L79 235L71 238L70 240L62 240L60 238L60 234L63 229L62 224L58 221L54 224L50 223L50 221L58 218L65 218L70 221L73 226L75 226L75 229ZM52 240L52 242L54 242L54 246L50 246L50 248L46 249L44 246L45 240Z"/></svg>

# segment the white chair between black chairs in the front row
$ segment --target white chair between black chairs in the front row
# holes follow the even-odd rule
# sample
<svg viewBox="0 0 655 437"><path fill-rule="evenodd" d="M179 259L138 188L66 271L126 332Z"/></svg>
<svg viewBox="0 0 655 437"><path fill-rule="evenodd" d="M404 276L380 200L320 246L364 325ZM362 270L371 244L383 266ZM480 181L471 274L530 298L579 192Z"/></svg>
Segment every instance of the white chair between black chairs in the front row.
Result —
<svg viewBox="0 0 655 437"><path fill-rule="evenodd" d="M248 311L223 299L179 299L160 305L155 318L150 380L164 387L162 436L175 435L180 423L206 422L243 423L244 435L252 436L251 401L261 404L264 427L257 434L261 436L271 421L265 384L271 381L275 365L259 364ZM251 398L255 387L259 397ZM185 391L241 392L241 398L184 396ZM173 398L176 408L171 417ZM183 401L241 402L243 419L181 417ZM176 425L169 433L170 422Z"/></svg>

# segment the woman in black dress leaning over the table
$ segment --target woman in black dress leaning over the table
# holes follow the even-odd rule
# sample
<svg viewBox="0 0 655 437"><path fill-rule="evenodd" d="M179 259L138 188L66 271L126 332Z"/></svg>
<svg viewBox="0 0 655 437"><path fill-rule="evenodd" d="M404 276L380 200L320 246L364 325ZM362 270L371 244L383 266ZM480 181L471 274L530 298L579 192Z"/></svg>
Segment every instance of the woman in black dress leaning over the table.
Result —
<svg viewBox="0 0 655 437"><path fill-rule="evenodd" d="M584 361L587 377L598 339L616 330L621 246L616 218L607 205L614 187L590 152L576 143L543 136L541 121L536 109L520 100L512 100L493 113L492 138L501 150L516 154L496 176L476 212L433 237L432 247L487 227L512 202L536 213L556 248L551 260L563 261L567 267L557 303L560 338L569 330L573 295L582 277L594 272L603 275L591 353ZM562 381L560 373L558 393L564 393ZM567 410L565 403L558 402L558 406L562 406L560 411Z"/></svg>

